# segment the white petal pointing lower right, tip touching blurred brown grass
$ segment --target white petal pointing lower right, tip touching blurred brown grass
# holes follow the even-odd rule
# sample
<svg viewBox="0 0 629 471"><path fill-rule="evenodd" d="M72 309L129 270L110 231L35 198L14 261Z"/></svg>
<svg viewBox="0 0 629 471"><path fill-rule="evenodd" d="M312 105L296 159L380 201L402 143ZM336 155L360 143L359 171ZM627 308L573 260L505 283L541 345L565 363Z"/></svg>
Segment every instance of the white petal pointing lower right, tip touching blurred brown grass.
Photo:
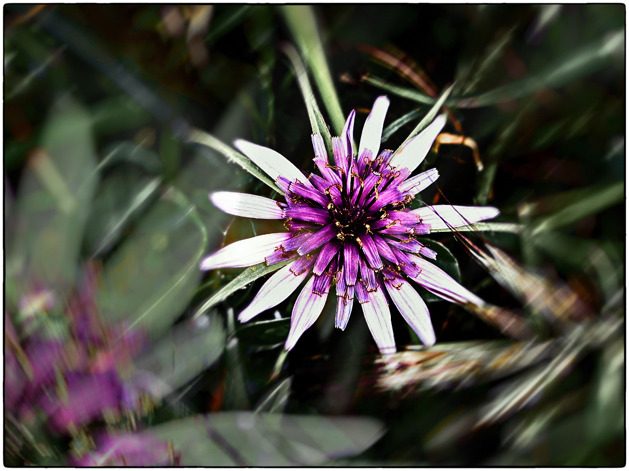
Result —
<svg viewBox="0 0 629 471"><path fill-rule="evenodd" d="M439 267L416 255L408 256L415 262L420 272L411 277L413 281L425 287L428 291L443 297L447 301L465 304L471 302L476 306L482 306L485 302L469 289L460 285L454 278ZM411 276L411 275L409 275Z"/></svg>

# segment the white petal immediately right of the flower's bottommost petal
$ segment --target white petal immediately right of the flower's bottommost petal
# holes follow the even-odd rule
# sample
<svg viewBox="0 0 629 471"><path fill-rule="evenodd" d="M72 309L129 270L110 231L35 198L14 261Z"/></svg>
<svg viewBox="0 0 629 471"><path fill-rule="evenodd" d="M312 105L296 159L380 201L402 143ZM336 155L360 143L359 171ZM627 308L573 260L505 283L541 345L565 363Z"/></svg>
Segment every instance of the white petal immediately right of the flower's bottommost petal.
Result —
<svg viewBox="0 0 629 471"><path fill-rule="evenodd" d="M393 304L396 305L399 313L402 314L404 320L408 322L423 344L434 345L435 331L430 322L430 313L426 303L410 283L402 280L399 282L401 285L392 285L390 282L384 283Z"/></svg>

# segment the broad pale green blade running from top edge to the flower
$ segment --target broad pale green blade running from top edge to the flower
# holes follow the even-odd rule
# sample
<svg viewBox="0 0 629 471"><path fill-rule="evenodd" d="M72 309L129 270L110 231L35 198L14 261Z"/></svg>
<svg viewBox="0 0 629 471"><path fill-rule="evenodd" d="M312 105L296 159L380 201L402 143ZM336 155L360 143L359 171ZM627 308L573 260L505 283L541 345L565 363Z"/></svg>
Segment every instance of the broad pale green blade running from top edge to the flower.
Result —
<svg viewBox="0 0 629 471"><path fill-rule="evenodd" d="M314 8L311 5L284 5L281 6L281 9L301 55L306 59L309 69L315 77L323 104L325 104L330 116L332 129L337 136L340 136L343 125L345 125L345 118L330 75L325 52L323 52Z"/></svg>

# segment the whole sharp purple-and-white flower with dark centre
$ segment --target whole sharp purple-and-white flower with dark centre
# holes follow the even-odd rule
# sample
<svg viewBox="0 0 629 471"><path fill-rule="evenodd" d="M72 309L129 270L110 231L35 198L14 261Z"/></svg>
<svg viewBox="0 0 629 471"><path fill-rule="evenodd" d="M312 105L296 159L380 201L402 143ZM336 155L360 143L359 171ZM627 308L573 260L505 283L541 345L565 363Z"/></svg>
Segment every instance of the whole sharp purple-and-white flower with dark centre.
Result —
<svg viewBox="0 0 629 471"><path fill-rule="evenodd" d="M311 326L331 289L337 294L336 326L347 326L354 298L383 354L396 352L389 302L426 345L435 333L415 282L453 302L484 301L428 262L437 253L415 236L498 216L490 207L426 206L409 209L418 192L437 180L437 169L411 177L445 125L438 116L398 152L379 152L389 99L381 96L369 113L354 157L350 113L343 132L332 139L334 165L328 163L323 138L312 136L320 175L306 177L279 153L244 140L235 147L276 181L286 202L236 192L214 192L210 199L225 213L247 218L284 219L287 232L260 235L228 245L201 261L202 270L267 265L296 258L265 282L238 319L247 322L284 301L306 281L294 308L285 348L291 350ZM387 296L388 295L388 296Z"/></svg>

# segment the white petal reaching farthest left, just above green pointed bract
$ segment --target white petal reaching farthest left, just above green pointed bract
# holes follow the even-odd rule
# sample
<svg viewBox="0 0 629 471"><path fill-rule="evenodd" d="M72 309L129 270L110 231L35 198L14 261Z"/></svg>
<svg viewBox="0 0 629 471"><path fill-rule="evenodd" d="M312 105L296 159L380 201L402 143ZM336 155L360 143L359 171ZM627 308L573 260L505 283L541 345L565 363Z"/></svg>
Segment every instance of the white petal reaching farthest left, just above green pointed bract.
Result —
<svg viewBox="0 0 629 471"><path fill-rule="evenodd" d="M199 268L214 270L224 267L248 267L262 263L264 257L277 250L290 237L291 233L280 232L239 240L203 258L199 263Z"/></svg>

